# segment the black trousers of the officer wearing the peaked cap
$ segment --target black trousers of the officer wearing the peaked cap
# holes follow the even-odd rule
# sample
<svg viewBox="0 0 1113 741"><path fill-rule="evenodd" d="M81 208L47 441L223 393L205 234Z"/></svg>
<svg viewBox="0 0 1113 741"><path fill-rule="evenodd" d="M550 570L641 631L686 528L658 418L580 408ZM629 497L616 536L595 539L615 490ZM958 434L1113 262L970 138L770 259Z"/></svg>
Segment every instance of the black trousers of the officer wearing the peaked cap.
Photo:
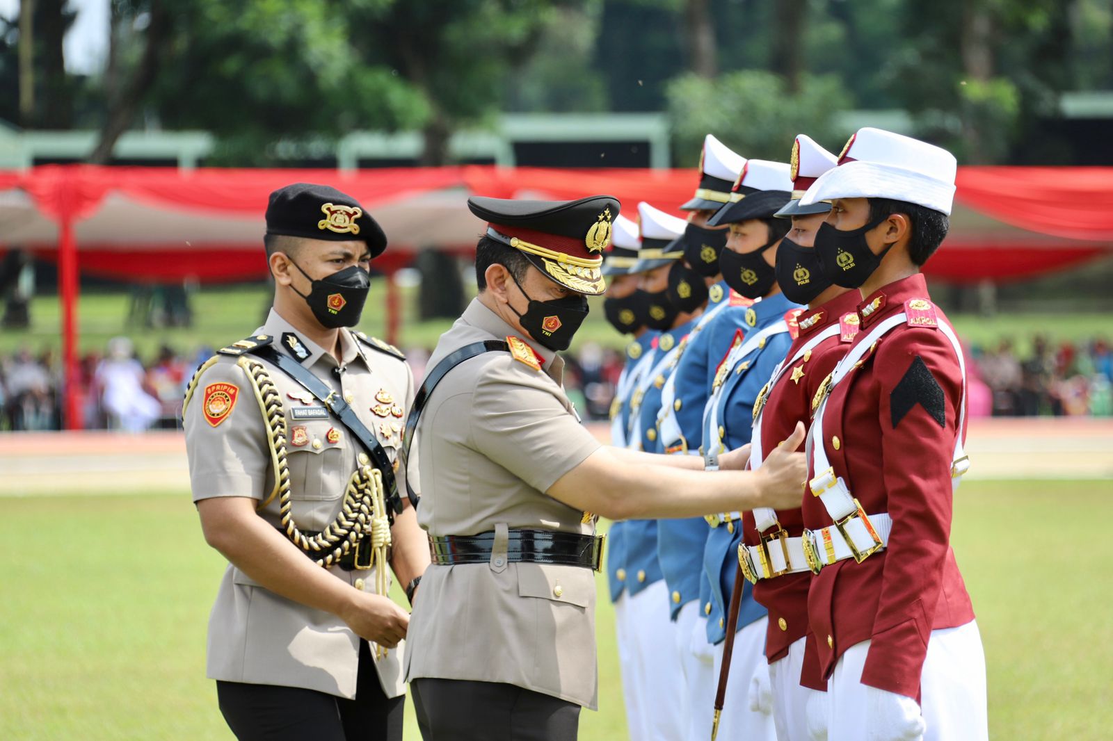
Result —
<svg viewBox="0 0 1113 741"><path fill-rule="evenodd" d="M580 705L513 684L417 679L410 683L424 741L575 741Z"/></svg>

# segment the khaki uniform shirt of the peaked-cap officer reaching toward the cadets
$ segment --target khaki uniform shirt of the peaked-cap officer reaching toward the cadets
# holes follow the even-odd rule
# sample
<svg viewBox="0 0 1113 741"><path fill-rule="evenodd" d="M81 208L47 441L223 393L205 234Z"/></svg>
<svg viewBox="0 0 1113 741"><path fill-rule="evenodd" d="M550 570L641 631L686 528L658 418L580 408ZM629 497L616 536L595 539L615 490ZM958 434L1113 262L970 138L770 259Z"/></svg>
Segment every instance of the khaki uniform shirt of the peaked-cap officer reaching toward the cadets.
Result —
<svg viewBox="0 0 1113 741"><path fill-rule="evenodd" d="M464 345L513 334L475 299L441 337L427 367ZM563 360L531 346L542 370L509 353L484 353L456 366L430 397L414 444L417 522L430 535L594 531L581 522L582 512L544 494L599 443L564 395ZM407 681L503 682L594 709L594 573L498 555L489 564L425 572L407 633Z"/></svg>

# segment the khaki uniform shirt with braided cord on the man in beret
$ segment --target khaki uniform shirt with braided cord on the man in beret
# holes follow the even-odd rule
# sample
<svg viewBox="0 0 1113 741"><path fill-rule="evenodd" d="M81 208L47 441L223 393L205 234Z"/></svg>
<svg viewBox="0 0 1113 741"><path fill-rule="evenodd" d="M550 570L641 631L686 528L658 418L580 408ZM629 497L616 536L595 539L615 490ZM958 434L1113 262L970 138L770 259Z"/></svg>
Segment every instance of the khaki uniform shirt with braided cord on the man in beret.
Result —
<svg viewBox="0 0 1113 741"><path fill-rule="evenodd" d="M255 334L270 335L277 345L285 333L297 334L272 310ZM297 336L308 350L302 365L348 401L394 461L402 441L404 411L410 408L414 395L410 367L401 358L372 349L342 329L344 370L337 375L334 373L337 363L331 354ZM236 364L237 358L218 357L201 374L185 411L194 501L211 496L249 496L262 501L274 487L263 413L246 373ZM259 359L254 355L248 357ZM302 531L322 531L339 513L344 491L365 455L363 447L305 388L277 367L265 362L264 365L285 407L294 522ZM230 384L237 389L230 412L215 425L205 414L206 388L213 384ZM383 404L382 399L387 397L392 402ZM219 411L220 405L213 408ZM307 418L314 415L321 418ZM334 431L332 435L329 431ZM401 468L396 473L403 492L404 475ZM259 511L259 516L279 525L277 496ZM329 573L357 589L367 592L375 589L374 570L344 571L333 566ZM390 650L376 662L387 696L398 696L405 691L401 671L403 645ZM358 648L358 636L336 615L279 596L228 564L209 618L209 679L298 686L352 699Z"/></svg>

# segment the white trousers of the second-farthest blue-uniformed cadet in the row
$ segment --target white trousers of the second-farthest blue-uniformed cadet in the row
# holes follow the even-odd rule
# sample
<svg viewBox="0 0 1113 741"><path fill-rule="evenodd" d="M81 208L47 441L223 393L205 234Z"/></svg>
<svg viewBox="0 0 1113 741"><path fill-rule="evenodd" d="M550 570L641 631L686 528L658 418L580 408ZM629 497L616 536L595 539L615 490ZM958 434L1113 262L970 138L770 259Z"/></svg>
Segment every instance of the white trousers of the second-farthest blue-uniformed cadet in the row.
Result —
<svg viewBox="0 0 1113 741"><path fill-rule="evenodd" d="M684 738L683 670L673 650L676 623L669 620L669 587L650 584L629 603L632 650L638 675L633 682L639 722L630 724L631 741L674 741ZM636 735L638 733L638 735ZM710 737L709 737L710 738Z"/></svg>

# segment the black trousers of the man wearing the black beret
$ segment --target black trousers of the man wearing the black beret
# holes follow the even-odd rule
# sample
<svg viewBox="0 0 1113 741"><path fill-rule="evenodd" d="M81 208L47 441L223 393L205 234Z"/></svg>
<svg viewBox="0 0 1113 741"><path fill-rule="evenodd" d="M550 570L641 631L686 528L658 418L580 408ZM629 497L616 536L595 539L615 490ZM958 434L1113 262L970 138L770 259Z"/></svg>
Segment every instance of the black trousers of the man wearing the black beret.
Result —
<svg viewBox="0 0 1113 741"><path fill-rule="evenodd" d="M406 698L387 698L359 641L355 700L274 684L217 682L220 713L239 741L402 741Z"/></svg>

